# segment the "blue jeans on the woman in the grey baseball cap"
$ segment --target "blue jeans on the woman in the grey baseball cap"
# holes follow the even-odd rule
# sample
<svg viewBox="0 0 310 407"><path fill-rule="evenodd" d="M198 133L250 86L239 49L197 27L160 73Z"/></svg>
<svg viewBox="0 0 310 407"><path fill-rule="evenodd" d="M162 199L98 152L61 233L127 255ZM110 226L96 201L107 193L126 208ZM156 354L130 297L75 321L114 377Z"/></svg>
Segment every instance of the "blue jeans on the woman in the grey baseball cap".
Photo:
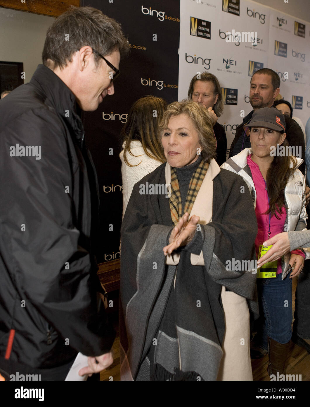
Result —
<svg viewBox="0 0 310 407"><path fill-rule="evenodd" d="M265 323L259 325L258 337L267 349L267 335L280 344L286 344L292 337L292 280L290 274L282 280L282 274L275 278L258 278L258 304L260 316Z"/></svg>

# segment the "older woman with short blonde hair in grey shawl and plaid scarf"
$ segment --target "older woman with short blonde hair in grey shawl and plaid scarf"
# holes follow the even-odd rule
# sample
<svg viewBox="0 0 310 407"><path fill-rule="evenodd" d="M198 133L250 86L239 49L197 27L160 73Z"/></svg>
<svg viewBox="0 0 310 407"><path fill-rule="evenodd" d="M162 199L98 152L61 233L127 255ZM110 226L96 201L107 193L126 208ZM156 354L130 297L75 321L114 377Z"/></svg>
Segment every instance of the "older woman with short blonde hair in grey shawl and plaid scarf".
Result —
<svg viewBox="0 0 310 407"><path fill-rule="evenodd" d="M249 190L217 165L197 103L171 103L159 140L167 163L135 184L121 227L121 380L252 380L256 274L235 267L255 259Z"/></svg>

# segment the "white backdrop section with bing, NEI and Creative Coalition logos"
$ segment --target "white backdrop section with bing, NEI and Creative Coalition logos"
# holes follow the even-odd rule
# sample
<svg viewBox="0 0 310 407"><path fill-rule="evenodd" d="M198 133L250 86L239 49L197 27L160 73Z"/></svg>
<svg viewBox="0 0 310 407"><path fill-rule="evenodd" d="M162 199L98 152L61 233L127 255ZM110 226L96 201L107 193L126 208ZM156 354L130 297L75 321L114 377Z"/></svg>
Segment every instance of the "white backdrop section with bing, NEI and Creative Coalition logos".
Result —
<svg viewBox="0 0 310 407"><path fill-rule="evenodd" d="M247 0L180 0L179 99L191 78L211 72L220 82L224 112L218 122L227 147L252 107L252 74L271 68L280 93L304 125L310 116L310 23ZM257 36L256 34L257 33Z"/></svg>

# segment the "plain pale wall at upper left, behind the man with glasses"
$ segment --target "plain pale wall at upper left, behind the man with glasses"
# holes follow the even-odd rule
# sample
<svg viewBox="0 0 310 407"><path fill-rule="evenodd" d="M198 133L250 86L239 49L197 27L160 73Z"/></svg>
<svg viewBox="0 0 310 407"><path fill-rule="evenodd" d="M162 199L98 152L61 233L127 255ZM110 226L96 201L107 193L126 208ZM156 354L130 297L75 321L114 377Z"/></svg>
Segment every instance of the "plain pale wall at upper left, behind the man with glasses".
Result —
<svg viewBox="0 0 310 407"><path fill-rule="evenodd" d="M0 61L23 62L30 81L39 63L48 27L54 17L0 7Z"/></svg>

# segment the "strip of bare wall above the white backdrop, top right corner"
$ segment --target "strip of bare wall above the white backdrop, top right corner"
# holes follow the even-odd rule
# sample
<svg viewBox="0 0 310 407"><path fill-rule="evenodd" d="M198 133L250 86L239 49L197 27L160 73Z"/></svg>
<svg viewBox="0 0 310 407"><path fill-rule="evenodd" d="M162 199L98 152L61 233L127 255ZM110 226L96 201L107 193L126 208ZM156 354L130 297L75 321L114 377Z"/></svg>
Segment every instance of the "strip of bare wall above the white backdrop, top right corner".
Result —
<svg viewBox="0 0 310 407"><path fill-rule="evenodd" d="M284 3L284 0L254 1L310 22L310 0L288 0L288 3Z"/></svg>

